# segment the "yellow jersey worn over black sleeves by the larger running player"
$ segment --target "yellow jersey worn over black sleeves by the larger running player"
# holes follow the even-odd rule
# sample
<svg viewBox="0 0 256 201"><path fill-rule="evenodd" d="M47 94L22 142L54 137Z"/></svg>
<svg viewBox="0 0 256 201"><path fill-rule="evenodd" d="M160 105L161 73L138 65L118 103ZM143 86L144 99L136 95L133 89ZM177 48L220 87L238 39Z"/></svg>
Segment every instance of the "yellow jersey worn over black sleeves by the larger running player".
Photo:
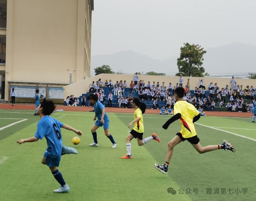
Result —
<svg viewBox="0 0 256 201"><path fill-rule="evenodd" d="M174 115L177 113L180 113L182 115L179 119L180 125L182 127L182 130L180 131L182 137L188 138L197 135L193 123L193 118L197 116L200 112L197 111L195 106L185 100L177 101L174 104Z"/></svg>

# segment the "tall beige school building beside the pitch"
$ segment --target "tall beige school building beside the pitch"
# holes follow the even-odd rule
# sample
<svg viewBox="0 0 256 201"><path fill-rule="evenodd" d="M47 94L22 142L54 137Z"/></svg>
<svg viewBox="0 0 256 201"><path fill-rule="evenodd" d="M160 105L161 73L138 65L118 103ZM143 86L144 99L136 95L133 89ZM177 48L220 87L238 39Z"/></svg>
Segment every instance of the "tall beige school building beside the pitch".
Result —
<svg viewBox="0 0 256 201"><path fill-rule="evenodd" d="M13 84L64 87L70 71L72 83L90 77L93 3L0 0L2 99Z"/></svg>

